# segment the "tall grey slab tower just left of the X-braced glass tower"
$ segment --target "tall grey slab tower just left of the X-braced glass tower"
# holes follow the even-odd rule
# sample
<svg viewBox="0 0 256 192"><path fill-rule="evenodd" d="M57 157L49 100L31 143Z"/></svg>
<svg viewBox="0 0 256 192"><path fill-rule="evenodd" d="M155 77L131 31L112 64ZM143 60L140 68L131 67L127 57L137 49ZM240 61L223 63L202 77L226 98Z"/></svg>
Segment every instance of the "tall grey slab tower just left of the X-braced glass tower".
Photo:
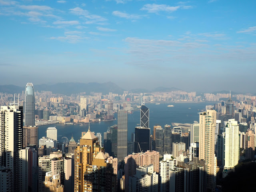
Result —
<svg viewBox="0 0 256 192"><path fill-rule="evenodd" d="M127 156L127 124L128 113L126 110L117 112L117 159L122 162Z"/></svg>

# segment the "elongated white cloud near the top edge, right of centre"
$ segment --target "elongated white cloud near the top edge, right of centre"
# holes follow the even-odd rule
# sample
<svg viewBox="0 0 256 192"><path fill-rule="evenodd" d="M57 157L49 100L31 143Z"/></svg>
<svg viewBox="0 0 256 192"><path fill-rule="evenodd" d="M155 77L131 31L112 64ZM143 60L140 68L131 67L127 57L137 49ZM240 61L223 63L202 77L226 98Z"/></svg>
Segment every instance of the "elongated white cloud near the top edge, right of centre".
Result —
<svg viewBox="0 0 256 192"><path fill-rule="evenodd" d="M149 13L157 13L159 11L173 12L180 8L180 6L168 6L164 4L146 4L140 10L146 10Z"/></svg>

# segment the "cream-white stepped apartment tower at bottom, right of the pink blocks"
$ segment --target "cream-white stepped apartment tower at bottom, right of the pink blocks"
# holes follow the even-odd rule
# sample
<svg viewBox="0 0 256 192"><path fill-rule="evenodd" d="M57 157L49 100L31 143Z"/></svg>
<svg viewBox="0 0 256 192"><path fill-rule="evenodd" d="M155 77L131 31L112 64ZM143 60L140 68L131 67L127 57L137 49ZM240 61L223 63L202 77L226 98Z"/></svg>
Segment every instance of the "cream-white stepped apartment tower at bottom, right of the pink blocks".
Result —
<svg viewBox="0 0 256 192"><path fill-rule="evenodd" d="M171 154L164 154L164 159L159 162L159 182L158 191L170 191L170 170L177 165L175 158Z"/></svg>

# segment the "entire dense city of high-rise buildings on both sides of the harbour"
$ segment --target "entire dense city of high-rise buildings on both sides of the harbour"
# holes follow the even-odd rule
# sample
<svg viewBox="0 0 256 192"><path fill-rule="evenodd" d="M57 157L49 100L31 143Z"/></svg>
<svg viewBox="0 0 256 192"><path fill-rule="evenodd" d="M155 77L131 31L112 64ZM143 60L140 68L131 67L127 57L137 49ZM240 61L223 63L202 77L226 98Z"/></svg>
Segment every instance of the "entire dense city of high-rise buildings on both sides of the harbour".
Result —
<svg viewBox="0 0 256 192"><path fill-rule="evenodd" d="M7 192L205 192L229 191L225 182L238 165L255 164L256 96L169 92L122 94L0 93L0 190ZM214 102L198 109L199 121L150 124L147 104ZM170 104L171 103L171 104ZM128 114L140 122L128 141ZM115 115L117 114L117 115ZM106 132L90 124L113 121ZM184 118L186 118L184 116ZM57 140L58 126L88 124L80 140ZM164 122L163 122L164 123ZM45 136L38 129L49 125ZM66 139L66 140L65 140Z"/></svg>

